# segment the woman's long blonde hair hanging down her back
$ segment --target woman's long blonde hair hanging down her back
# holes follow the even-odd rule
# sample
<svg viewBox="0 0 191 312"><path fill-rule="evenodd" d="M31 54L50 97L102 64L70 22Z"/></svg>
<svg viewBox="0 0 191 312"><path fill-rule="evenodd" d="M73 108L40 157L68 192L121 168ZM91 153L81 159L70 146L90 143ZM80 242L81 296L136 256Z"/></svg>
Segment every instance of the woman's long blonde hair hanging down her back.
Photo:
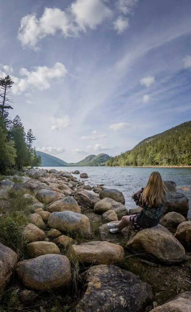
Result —
<svg viewBox="0 0 191 312"><path fill-rule="evenodd" d="M154 171L150 174L147 185L143 190L142 200L149 207L161 206L164 202L164 191L166 190L166 186L162 181L160 173Z"/></svg>

